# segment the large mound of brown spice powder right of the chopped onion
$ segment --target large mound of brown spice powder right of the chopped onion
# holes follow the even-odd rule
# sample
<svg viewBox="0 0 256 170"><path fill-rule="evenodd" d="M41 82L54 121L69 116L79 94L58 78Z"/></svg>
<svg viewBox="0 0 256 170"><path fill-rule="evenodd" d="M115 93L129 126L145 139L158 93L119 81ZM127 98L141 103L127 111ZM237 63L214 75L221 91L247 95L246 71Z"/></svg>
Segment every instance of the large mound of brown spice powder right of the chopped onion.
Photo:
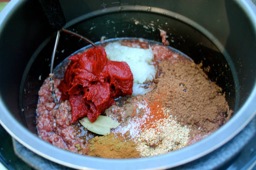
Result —
<svg viewBox="0 0 256 170"><path fill-rule="evenodd" d="M180 125L191 125L190 135L214 132L230 119L232 110L228 107L225 94L208 80L200 68L202 64L163 61L159 66L162 74L152 84L154 90L146 97L151 103L161 100L162 106L171 110L169 114Z"/></svg>

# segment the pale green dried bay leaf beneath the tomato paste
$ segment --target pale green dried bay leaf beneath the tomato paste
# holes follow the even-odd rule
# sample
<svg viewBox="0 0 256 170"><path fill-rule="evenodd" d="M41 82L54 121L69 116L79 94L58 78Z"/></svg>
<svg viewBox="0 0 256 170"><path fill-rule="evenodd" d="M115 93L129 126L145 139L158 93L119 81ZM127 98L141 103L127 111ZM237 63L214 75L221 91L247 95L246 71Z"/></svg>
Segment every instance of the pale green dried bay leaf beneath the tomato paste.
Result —
<svg viewBox="0 0 256 170"><path fill-rule="evenodd" d="M84 117L79 122L88 130L98 135L110 134L110 129L118 127L119 123L113 121L111 117L99 115L97 120L93 123Z"/></svg>

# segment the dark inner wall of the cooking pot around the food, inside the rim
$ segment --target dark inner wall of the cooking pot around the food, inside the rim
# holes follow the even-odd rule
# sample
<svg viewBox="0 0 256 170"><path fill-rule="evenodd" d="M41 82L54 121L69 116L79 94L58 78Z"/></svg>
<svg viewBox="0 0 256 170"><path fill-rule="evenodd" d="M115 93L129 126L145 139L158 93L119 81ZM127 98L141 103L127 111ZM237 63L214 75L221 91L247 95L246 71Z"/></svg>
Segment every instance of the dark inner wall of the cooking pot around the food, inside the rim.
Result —
<svg viewBox="0 0 256 170"><path fill-rule="evenodd" d="M240 8L240 2L63 0L60 3L67 20L66 29L94 42L102 36L161 42L159 29L166 31L171 47L188 55L196 64L202 62L203 69L210 67L206 74L226 94L233 116L255 86L255 28ZM38 90L50 72L56 33L48 28L40 6L32 0L17 5L2 32L5 34L0 37L1 44L7 43L0 51L8 57L0 58L2 72L6 71L1 75L1 97L10 113L36 134ZM86 45L61 32L54 66Z"/></svg>

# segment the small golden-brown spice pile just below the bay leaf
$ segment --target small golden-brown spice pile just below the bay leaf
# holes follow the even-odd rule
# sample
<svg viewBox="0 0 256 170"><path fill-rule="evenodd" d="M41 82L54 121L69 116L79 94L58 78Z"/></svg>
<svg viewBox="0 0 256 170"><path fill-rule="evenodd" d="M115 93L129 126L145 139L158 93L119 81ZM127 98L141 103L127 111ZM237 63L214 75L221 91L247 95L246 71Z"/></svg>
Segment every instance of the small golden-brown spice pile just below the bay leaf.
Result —
<svg viewBox="0 0 256 170"><path fill-rule="evenodd" d="M138 158L139 152L132 141L122 141L114 133L102 137L94 137L91 141L89 156L102 158Z"/></svg>

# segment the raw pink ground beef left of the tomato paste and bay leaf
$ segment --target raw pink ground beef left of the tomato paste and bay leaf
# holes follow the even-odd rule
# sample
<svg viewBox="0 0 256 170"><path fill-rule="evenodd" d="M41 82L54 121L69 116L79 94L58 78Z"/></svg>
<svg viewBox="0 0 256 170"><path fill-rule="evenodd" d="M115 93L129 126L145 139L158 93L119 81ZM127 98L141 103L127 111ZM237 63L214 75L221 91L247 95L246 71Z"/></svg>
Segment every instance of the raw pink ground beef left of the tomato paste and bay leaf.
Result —
<svg viewBox="0 0 256 170"><path fill-rule="evenodd" d="M54 109L55 104L49 91L49 82L50 80L46 79L38 92L39 102L36 110L38 137L61 149L86 154L88 143L79 136L81 125L78 125L78 122L71 123L71 106L68 100L62 102L58 109ZM57 98L60 99L58 84L60 80L55 79L54 88ZM77 144L80 144L80 150L76 147Z"/></svg>

